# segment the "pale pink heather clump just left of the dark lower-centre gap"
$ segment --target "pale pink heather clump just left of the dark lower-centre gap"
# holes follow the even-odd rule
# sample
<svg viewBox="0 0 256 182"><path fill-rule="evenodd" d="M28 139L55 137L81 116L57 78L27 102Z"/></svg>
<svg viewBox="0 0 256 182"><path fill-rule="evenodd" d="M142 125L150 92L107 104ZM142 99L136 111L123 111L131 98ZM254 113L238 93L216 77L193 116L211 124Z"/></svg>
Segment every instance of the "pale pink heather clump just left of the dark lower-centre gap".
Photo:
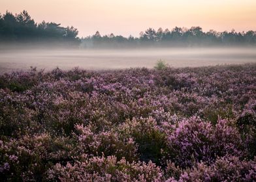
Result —
<svg viewBox="0 0 256 182"><path fill-rule="evenodd" d="M117 159L125 157L127 161L136 161L136 144L133 138L125 138L114 131L101 131L95 133L93 127L76 125L79 135L77 151L88 155L114 155Z"/></svg>

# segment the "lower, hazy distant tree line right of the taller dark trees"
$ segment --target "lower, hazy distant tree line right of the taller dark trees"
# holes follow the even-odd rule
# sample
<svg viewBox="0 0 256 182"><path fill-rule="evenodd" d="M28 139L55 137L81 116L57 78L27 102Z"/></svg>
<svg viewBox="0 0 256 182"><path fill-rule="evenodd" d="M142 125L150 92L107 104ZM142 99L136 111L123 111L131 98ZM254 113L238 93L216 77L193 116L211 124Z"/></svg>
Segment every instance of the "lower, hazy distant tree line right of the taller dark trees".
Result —
<svg viewBox="0 0 256 182"><path fill-rule="evenodd" d="M256 31L247 32L217 32L210 30L203 32L201 27L190 29L174 27L171 31L159 28L157 31L149 28L140 32L139 37L129 36L125 38L114 34L101 36L99 31L94 35L82 38L84 47L104 46L125 47L130 45L139 46L204 46L204 45L256 45Z"/></svg>

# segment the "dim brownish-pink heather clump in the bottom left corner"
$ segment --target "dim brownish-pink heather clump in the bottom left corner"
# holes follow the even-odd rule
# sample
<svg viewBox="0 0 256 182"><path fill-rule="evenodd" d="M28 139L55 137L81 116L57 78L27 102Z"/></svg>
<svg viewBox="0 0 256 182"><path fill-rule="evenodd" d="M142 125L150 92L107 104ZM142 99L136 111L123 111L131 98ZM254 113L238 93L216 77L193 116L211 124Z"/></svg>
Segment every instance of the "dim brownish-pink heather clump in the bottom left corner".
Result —
<svg viewBox="0 0 256 182"><path fill-rule="evenodd" d="M10 141L0 140L1 166L7 181L37 181L56 162L72 161L76 153L72 140L48 134L23 136ZM8 164L8 168L6 165Z"/></svg>

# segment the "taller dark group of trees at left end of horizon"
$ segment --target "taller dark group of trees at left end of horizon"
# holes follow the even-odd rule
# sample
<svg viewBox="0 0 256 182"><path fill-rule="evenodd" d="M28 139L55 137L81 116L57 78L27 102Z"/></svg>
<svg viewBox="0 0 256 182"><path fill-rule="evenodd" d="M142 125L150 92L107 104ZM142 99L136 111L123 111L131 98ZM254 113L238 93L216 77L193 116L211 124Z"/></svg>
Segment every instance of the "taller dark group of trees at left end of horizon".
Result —
<svg viewBox="0 0 256 182"><path fill-rule="evenodd" d="M42 21L35 23L27 11L20 14L0 14L1 42L80 42L78 30L61 27L59 23Z"/></svg>

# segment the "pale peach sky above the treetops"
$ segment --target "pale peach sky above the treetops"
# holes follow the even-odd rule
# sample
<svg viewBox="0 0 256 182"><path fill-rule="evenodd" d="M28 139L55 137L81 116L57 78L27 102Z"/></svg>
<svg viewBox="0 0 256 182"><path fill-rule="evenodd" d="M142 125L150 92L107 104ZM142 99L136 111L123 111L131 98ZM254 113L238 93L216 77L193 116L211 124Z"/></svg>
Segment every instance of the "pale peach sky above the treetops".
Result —
<svg viewBox="0 0 256 182"><path fill-rule="evenodd" d="M42 20L74 26L79 36L138 36L148 27L200 26L203 31L256 31L256 0L0 0L0 12L27 10Z"/></svg>

